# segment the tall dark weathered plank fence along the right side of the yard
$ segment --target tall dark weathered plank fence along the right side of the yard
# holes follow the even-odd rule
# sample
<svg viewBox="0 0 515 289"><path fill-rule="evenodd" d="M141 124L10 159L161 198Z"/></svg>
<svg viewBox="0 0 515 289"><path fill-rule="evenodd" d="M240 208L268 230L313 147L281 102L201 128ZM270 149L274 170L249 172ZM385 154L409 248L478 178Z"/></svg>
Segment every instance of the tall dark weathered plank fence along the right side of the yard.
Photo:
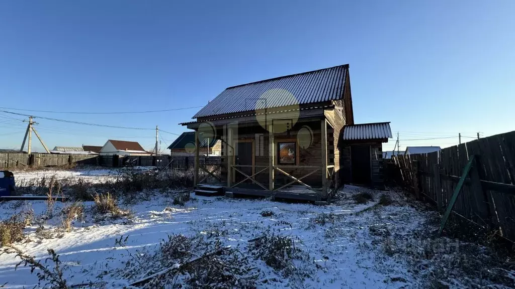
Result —
<svg viewBox="0 0 515 289"><path fill-rule="evenodd" d="M515 131L462 143L439 152L399 155L386 175L441 211L474 155L452 212L515 241Z"/></svg>

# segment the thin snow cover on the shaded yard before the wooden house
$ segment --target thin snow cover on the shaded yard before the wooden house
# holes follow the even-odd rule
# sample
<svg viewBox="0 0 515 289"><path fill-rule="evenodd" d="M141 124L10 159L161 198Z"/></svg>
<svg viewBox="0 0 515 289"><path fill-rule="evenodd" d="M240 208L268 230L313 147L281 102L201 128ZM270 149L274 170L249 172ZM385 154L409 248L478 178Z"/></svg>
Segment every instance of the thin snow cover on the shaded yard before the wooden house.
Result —
<svg viewBox="0 0 515 289"><path fill-rule="evenodd" d="M63 172L66 176L88 178L94 178L96 173L96 177L110 175L103 170L91 175ZM26 177L29 176L30 173ZM355 204L352 195L360 192L369 192L373 201ZM393 203L379 204L383 194ZM13 246L36 260L44 260L47 250L53 249L67 267L64 276L68 285L102 282L106 288L122 288L141 278L122 277L127 262L158 251L160 242L171 234L216 237L224 246L242 252L249 240L266 231L294 238L297 247L309 256L296 263L305 272L303 280L286 278L262 260L252 259L259 280L266 280L257 283L259 288L418 288L427 285L424 276L431 270L431 264L426 264L425 269L414 269L413 260L410 262L400 251L410 252L412 249L405 247L414 244L419 246L416 249L424 249L420 232L431 229L428 220L433 213L408 205L398 192L346 186L329 206L203 197L193 193L184 206L173 205L173 194L161 193L148 195L147 200L133 205L124 206L122 200L119 203L133 212L130 219L98 220L93 218L93 203L85 202L87 217L83 222L75 222L71 232L59 230L60 210L70 204L56 203L52 218L41 221L44 230L53 233L42 237L41 227L32 224L25 229L26 239ZM33 210L41 217L47 214L47 204L0 203L0 219L6 220L24 210ZM263 212L268 212L268 216L262 216ZM117 241L121 239L125 240L124 245ZM453 254L455 248L451 242L445 250ZM38 284L38 269L30 274L30 268L23 264L15 268L19 262L15 254L0 255L0 286L5 282L6 288Z"/></svg>

